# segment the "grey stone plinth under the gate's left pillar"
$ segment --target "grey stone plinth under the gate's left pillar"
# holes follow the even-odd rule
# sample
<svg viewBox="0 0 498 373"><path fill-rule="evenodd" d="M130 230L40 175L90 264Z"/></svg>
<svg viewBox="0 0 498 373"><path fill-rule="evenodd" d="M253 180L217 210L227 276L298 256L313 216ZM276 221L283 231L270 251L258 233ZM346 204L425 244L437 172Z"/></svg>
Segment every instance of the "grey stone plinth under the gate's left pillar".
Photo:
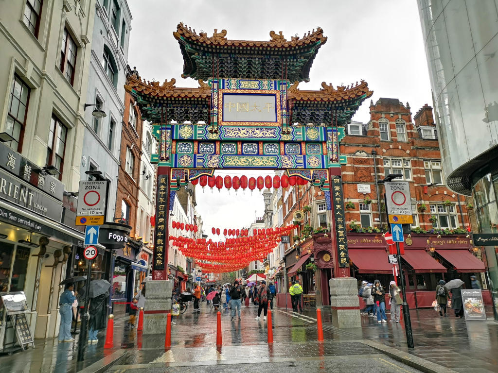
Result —
<svg viewBox="0 0 498 373"><path fill-rule="evenodd" d="M143 312L143 334L164 334L166 319L171 312L171 289L169 280L146 282L145 306Z"/></svg>

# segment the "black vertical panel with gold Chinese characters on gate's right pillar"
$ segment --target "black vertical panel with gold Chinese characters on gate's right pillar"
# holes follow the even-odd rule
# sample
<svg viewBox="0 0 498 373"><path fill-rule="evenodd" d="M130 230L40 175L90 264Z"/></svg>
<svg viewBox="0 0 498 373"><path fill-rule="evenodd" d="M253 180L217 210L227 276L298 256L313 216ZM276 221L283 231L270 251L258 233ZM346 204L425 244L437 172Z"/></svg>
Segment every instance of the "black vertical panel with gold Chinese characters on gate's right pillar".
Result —
<svg viewBox="0 0 498 373"><path fill-rule="evenodd" d="M332 179L332 209L334 211L334 221L336 223L336 240L339 267L349 266L348 240L346 238L346 222L344 219L344 198L342 190L342 180L340 176Z"/></svg>

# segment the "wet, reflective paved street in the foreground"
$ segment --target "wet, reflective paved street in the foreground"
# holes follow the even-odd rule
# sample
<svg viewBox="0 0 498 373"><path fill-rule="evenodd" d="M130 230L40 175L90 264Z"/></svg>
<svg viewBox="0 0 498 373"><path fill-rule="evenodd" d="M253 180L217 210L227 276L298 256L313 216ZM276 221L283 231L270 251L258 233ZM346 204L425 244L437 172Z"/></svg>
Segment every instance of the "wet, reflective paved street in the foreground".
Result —
<svg viewBox="0 0 498 373"><path fill-rule="evenodd" d="M222 311L223 345L217 348L214 310L202 303L199 314L191 312L192 306L173 318L166 351L164 334L143 336L118 318L114 348L104 350L103 331L99 343L87 347L84 363L75 362L75 342L45 340L36 341L35 349L1 357L0 364L12 373L235 372L241 364L249 372L363 372L365 367L369 372L498 372L498 324L492 315L488 322L466 323L440 318L431 309L412 310L415 348L408 351L402 322L378 324L376 318L362 316L361 329L338 329L328 308L322 310L323 343L317 341L314 308L302 314L284 308L272 313L274 343L268 345L267 322L262 315L254 320L255 306L242 307L241 321L231 321L230 311Z"/></svg>

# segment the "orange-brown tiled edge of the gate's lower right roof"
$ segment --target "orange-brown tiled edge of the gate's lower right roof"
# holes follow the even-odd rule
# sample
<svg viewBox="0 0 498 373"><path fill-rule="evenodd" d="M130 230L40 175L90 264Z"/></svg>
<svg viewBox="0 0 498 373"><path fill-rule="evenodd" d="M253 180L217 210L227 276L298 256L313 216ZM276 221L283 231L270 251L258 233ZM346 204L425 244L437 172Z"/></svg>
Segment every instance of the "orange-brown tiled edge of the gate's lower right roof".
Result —
<svg viewBox="0 0 498 373"><path fill-rule="evenodd" d="M320 91L304 91L299 90L297 86L299 82L295 82L287 90L287 98L293 98L299 101L345 101L352 99L368 98L373 94L369 90L367 82L364 80L360 84L351 84L351 86L337 86L335 89L332 84L322 82Z"/></svg>

